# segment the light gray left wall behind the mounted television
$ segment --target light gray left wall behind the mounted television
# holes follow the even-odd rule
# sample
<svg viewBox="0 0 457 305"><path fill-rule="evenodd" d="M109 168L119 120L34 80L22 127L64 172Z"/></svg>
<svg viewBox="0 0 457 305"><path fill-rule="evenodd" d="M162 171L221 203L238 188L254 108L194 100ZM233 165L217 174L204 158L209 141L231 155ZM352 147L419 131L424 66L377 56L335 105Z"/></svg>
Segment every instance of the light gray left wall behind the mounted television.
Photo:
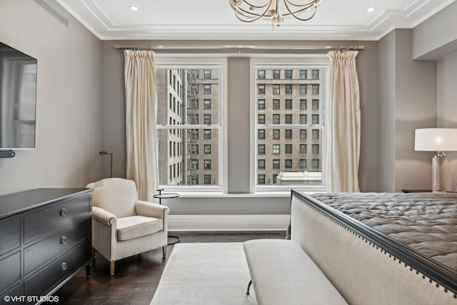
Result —
<svg viewBox="0 0 457 305"><path fill-rule="evenodd" d="M0 195L100 176L101 42L55 1L0 0L0 41L38 59L36 149L0 159Z"/></svg>

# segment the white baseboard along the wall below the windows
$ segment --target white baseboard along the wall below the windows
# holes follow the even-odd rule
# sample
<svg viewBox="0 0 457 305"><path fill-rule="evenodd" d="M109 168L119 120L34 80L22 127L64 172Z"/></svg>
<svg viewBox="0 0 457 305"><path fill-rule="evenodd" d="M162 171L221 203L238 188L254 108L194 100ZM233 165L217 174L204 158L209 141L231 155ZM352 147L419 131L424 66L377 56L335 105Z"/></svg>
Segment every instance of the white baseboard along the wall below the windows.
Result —
<svg viewBox="0 0 457 305"><path fill-rule="evenodd" d="M285 231L290 215L169 215L169 231Z"/></svg>

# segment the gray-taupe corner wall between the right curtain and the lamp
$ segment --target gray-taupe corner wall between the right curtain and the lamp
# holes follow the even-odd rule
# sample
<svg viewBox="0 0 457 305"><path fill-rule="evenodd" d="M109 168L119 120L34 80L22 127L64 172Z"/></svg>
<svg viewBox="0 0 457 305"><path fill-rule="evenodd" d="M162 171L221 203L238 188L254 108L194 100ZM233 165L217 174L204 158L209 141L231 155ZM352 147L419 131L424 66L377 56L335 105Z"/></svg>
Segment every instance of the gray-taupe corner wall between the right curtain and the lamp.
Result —
<svg viewBox="0 0 457 305"><path fill-rule="evenodd" d="M436 61L413 61L411 40L397 29L379 41L379 191L431 188L430 154L414 151L414 130L436 126Z"/></svg>

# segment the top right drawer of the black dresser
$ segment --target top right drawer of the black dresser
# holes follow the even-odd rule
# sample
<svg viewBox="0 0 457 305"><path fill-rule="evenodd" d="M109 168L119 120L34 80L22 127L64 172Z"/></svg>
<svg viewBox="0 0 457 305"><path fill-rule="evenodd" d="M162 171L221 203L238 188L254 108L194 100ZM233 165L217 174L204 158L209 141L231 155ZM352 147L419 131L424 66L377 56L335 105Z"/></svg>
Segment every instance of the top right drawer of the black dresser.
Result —
<svg viewBox="0 0 457 305"><path fill-rule="evenodd" d="M24 243L39 239L44 234L90 214L89 195L62 201L24 217Z"/></svg>

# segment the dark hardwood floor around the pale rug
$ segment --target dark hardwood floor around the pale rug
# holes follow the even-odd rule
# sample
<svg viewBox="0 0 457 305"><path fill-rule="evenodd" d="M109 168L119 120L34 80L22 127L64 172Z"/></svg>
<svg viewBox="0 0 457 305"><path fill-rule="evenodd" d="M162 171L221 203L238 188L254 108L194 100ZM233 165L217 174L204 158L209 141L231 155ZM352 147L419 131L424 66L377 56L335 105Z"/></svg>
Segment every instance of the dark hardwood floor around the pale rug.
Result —
<svg viewBox="0 0 457 305"><path fill-rule="evenodd" d="M250 239L285 239L286 231L256 232L173 232L181 243L242 242ZM149 305L159 285L161 274L174 245L116 261L114 276L109 275L109 262L99 253L92 264L90 279L86 271L76 274L57 291L59 304L131 304ZM48 303L49 305L56 303Z"/></svg>

